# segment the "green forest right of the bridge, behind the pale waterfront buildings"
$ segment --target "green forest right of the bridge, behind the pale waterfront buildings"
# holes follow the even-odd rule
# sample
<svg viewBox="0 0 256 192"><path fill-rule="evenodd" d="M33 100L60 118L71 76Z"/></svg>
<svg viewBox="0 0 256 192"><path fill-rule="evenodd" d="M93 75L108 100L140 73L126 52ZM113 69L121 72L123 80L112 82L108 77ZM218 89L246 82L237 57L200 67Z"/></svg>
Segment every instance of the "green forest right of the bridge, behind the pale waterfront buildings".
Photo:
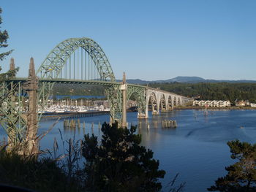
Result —
<svg viewBox="0 0 256 192"><path fill-rule="evenodd" d="M199 83L153 83L148 87L194 97L203 100L249 100L256 102L256 83L199 82Z"/></svg>

